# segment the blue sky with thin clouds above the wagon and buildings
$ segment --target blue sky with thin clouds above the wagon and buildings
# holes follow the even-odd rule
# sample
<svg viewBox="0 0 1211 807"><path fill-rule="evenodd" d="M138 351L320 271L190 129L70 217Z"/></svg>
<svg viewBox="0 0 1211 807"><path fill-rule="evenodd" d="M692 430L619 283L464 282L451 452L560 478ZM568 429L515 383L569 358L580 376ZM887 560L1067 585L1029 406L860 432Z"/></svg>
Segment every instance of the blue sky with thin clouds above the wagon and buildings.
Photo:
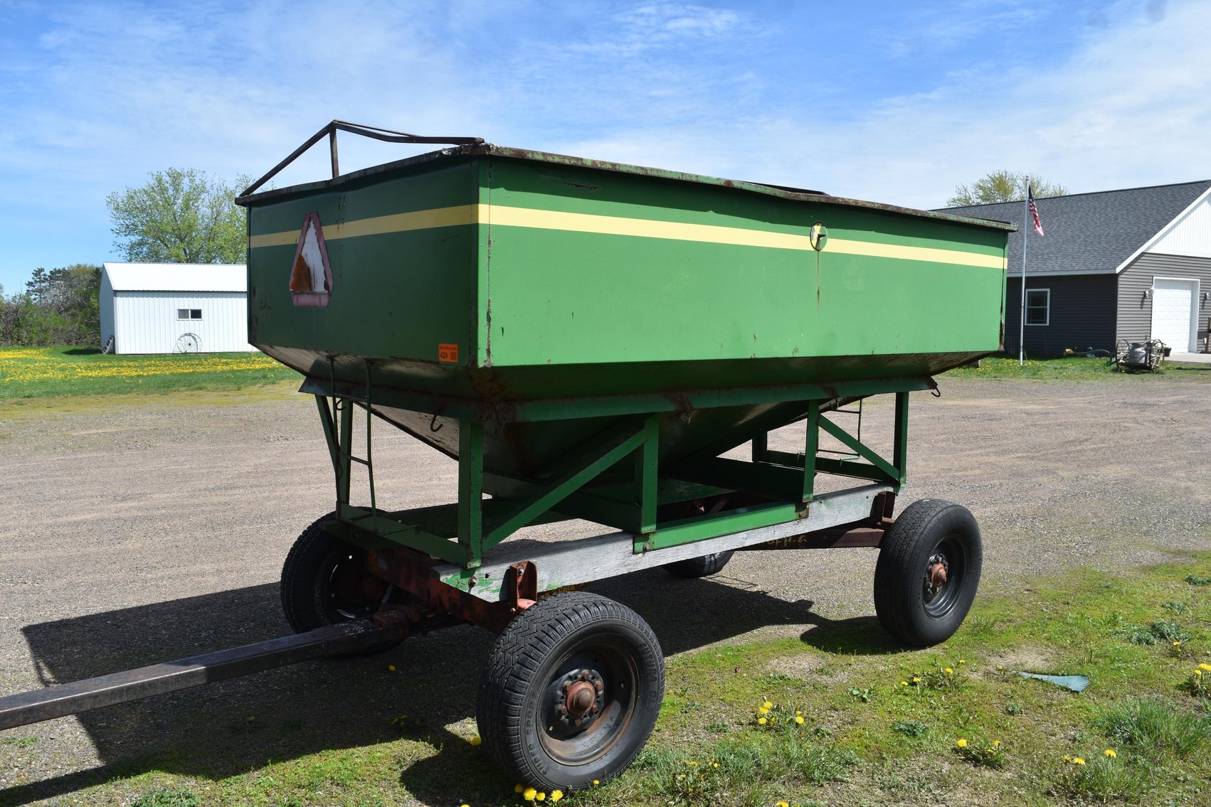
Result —
<svg viewBox="0 0 1211 807"><path fill-rule="evenodd" d="M121 259L104 198L148 172L259 175L334 117L912 207L1211 178L1209 31L1177 0L0 0L0 284Z"/></svg>

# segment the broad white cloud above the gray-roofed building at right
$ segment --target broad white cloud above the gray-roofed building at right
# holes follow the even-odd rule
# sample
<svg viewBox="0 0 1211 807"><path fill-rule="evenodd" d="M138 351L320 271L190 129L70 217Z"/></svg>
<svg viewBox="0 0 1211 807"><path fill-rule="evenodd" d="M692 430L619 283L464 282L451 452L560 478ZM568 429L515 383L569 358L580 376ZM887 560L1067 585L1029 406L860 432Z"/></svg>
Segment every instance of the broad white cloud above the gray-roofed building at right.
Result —
<svg viewBox="0 0 1211 807"><path fill-rule="evenodd" d="M718 128L638 127L573 144L593 156L937 207L988 171L1071 191L1211 177L1211 6L1120 4L1072 56L989 75L955 71L853 119L788 110Z"/></svg>

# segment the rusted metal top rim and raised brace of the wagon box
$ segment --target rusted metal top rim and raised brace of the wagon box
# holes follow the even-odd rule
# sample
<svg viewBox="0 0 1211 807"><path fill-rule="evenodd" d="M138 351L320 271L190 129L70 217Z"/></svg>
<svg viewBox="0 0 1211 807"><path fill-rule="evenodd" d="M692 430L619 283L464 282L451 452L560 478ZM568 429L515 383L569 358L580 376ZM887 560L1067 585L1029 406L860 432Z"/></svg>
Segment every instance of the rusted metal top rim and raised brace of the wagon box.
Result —
<svg viewBox="0 0 1211 807"><path fill-rule="evenodd" d="M342 121L333 121L333 123L340 123ZM332 126L332 123L329 123ZM369 128L369 127L360 127ZM343 129L354 131L354 129ZM381 129L385 131L385 129ZM295 194L306 194L316 190L331 189L346 183L357 181L367 177L374 177L380 173L388 173L391 171L397 171L401 168L408 168L413 166L424 165L426 162L434 162L437 160L455 160L460 157L475 157L475 156L494 156L494 157L506 157L513 160L529 160L535 162L546 162L552 165L568 166L570 168L591 168L597 171L613 171L624 174L637 174L641 177L653 177L656 179L668 179L673 181L687 181L698 183L701 185L714 185L719 188L731 188L735 190L748 191L753 194L762 194L764 196L774 196L777 198L785 198L797 202L815 202L817 204L840 204L844 207L859 207L872 211L882 211L885 213L896 213L902 215L913 215L925 219L935 219L942 221L952 221L954 224L974 225L980 227L987 227L992 230L1005 230L1009 232L1015 232L1017 225L1009 224L1005 221L988 221L985 219L972 219L963 215L951 215L947 213L935 213L932 211L919 211L911 207L900 207L897 204L883 204L880 202L867 202L865 200L849 198L844 196L831 196L820 191L809 191L802 189L793 189L782 185L767 185L763 183L745 181L741 179L722 179L719 177L710 177L706 174L691 174L679 171L668 171L665 168L653 168L649 166L635 166L625 162L610 162L608 160L591 160L587 157L576 157L564 154L552 154L550 151L536 151L533 149L517 149L513 146L495 145L492 143L470 143L465 145L459 145L450 149L440 149L437 151L429 151L425 154L419 154L412 157L404 157L403 160L396 160L394 162L385 162L379 166L371 166L369 168L362 168L361 171L354 171L340 177L334 177L332 179L326 179L315 183L306 183L303 185L291 185L288 188L277 188L269 191L262 191L259 194L253 194L257 188L259 188L264 181L281 171L286 165L289 165L295 157L298 157L303 151L311 148L322 137L328 134L328 127L320 129L310 140L299 146L289 157L279 163L272 171L270 171L265 177L249 186L245 192L236 197L236 204L242 204L251 207L254 203L264 202L272 198L281 198L286 196L293 196ZM365 134L366 132L357 132L358 134ZM372 136L373 137L373 136ZM415 138L415 136L408 136ZM377 138L386 139L386 138ZM471 138L464 138L471 139ZM478 139L478 138L475 138ZM457 138L429 138L429 139L409 139L409 140L392 140L397 143L425 143L425 142L440 142L440 143L452 143Z"/></svg>

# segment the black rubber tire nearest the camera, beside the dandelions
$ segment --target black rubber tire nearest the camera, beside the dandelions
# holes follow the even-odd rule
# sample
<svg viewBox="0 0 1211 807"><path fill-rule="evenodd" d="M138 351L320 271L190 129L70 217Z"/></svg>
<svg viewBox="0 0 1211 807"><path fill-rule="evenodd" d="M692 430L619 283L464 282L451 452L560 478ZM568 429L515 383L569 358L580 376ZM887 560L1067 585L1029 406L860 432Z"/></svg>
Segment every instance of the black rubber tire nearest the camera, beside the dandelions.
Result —
<svg viewBox="0 0 1211 807"><path fill-rule="evenodd" d="M545 732L539 722L544 693L561 678L562 664L601 640L624 645L633 664L631 716L620 731L606 734L610 747L597 757L564 765L539 736ZM615 687L607 682L606 692ZM510 780L568 792L608 782L635 760L656 724L664 690L664 653L648 623L614 600L567 592L522 611L497 639L480 681L476 720L483 745Z"/></svg>

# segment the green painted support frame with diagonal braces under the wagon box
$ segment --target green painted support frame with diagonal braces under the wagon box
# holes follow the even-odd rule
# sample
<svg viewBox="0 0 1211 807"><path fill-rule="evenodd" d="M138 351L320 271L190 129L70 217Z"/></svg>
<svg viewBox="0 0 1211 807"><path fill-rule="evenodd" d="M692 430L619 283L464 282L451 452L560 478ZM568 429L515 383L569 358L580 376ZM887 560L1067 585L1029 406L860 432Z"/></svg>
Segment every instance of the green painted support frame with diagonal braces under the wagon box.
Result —
<svg viewBox="0 0 1211 807"><path fill-rule="evenodd" d="M333 531L367 549L396 546L417 549L461 566L464 577L470 578L482 565L486 552L533 524L584 518L632 532L635 552L639 553L802 519L814 498L817 473L882 482L896 490L905 484L908 392L923 385L900 381L897 386L885 390L895 394L890 460L823 416L836 398L804 400L804 444L797 454L769 449L769 428L757 426L748 436L750 461L712 455L661 468L661 414L632 414L570 450L563 463L551 468L544 479L518 479L487 471L484 422L460 419L458 501L390 513L377 508L372 415L366 415L367 456L356 457L351 450L354 409L369 413L372 403L316 394L335 478L338 523ZM859 459L820 456L821 431ZM603 472L627 460L632 467L630 482L595 484ZM349 501L354 462L367 468L369 508ZM728 492L747 494L750 503L667 521L658 517L661 505ZM484 498L486 494L490 498ZM753 496L756 503L751 503Z"/></svg>

